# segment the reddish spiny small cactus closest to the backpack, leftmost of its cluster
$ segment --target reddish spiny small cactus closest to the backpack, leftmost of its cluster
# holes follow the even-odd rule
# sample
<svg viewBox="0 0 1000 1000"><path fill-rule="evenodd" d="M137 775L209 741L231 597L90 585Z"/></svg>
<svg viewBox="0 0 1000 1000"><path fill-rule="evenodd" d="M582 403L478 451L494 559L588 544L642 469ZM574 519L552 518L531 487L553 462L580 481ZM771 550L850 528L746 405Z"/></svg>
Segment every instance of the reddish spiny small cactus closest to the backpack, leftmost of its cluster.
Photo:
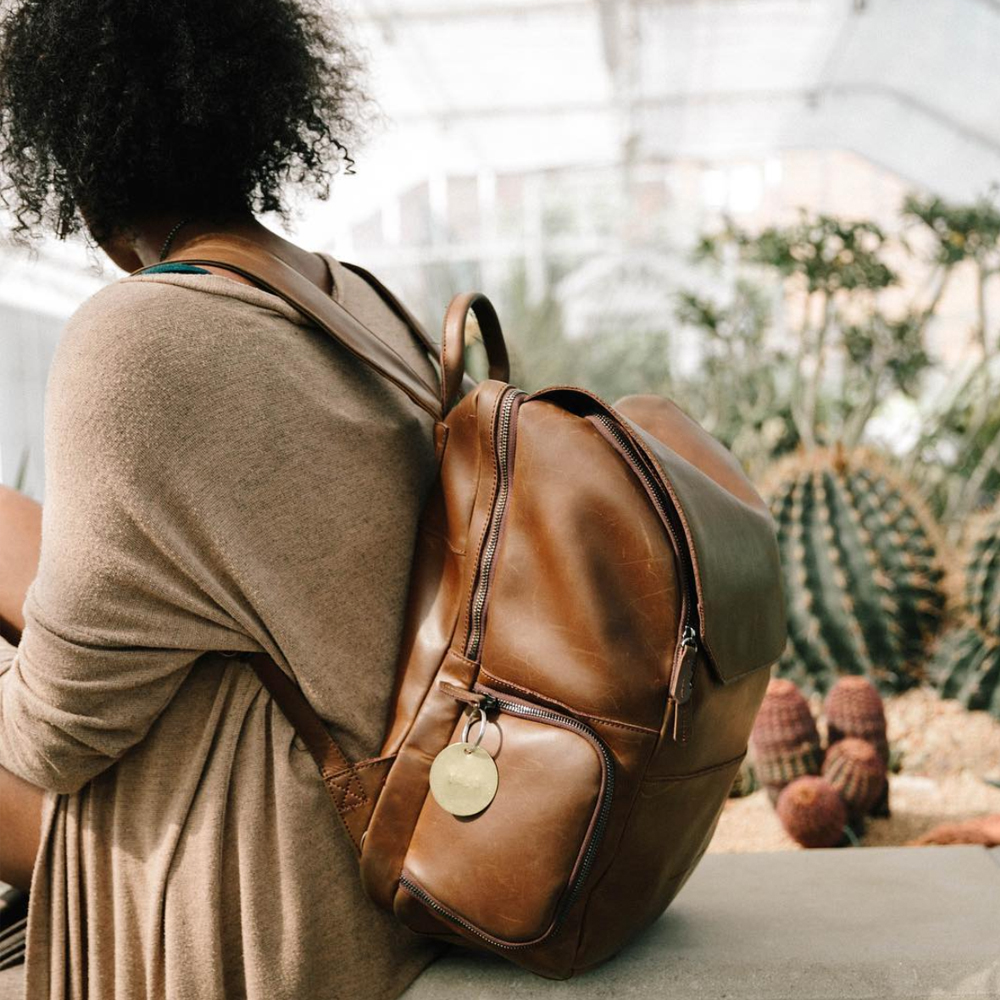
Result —
<svg viewBox="0 0 1000 1000"><path fill-rule="evenodd" d="M772 802L789 782L819 774L823 751L816 720L791 681L777 678L768 684L750 734L750 752L757 780Z"/></svg>

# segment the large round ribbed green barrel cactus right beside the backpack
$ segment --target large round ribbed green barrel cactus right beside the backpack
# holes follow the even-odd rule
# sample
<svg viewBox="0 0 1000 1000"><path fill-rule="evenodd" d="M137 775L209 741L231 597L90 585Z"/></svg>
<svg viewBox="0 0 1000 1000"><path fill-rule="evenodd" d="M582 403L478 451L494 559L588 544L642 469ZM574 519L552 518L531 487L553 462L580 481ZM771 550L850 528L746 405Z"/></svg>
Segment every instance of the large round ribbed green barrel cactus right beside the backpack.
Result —
<svg viewBox="0 0 1000 1000"><path fill-rule="evenodd" d="M779 673L807 693L842 674L883 691L922 679L944 612L937 531L874 453L793 456L764 484L778 527L789 642Z"/></svg>

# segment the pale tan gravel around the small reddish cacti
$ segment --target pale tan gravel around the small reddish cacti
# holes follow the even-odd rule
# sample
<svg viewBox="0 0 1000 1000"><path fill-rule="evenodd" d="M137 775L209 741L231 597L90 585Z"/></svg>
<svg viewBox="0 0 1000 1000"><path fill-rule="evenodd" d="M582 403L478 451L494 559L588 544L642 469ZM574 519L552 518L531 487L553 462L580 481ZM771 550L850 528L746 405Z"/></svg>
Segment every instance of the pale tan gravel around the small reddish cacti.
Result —
<svg viewBox="0 0 1000 1000"><path fill-rule="evenodd" d="M863 844L905 844L938 823L1000 813L1000 788L983 780L1000 780L1000 721L927 689L887 700L886 719L901 771L889 777L892 815L869 820ZM709 846L716 853L796 850L764 791L730 799Z"/></svg>

